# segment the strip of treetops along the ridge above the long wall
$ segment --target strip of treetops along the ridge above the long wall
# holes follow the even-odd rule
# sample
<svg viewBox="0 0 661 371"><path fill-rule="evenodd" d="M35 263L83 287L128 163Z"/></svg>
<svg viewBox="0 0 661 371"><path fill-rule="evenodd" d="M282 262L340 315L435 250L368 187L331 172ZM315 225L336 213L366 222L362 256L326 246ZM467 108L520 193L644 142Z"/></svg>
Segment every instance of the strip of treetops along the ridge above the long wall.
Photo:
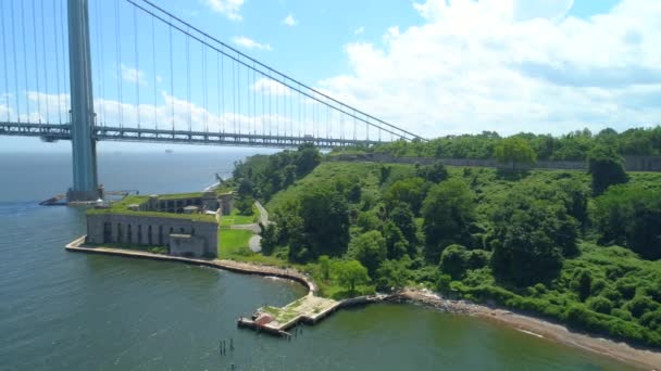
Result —
<svg viewBox="0 0 661 371"><path fill-rule="evenodd" d="M599 145L607 145L621 155L661 155L661 127L633 128L623 132L603 129L593 133L588 129L560 137L551 135L519 133L509 138L522 139L542 161L583 161ZM394 156L491 158L497 157L498 144L504 138L495 131L479 135L448 136L429 141L396 141L371 148L345 148L334 153L388 153Z"/></svg>

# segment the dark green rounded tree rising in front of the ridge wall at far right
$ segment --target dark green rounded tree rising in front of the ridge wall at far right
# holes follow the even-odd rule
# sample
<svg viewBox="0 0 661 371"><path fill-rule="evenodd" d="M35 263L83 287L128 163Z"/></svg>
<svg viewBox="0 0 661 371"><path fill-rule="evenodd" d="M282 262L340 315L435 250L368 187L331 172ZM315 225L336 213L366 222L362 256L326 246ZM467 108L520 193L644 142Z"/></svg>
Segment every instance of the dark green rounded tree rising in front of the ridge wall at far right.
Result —
<svg viewBox="0 0 661 371"><path fill-rule="evenodd" d="M624 159L615 150L597 145L588 153L588 172L593 176L593 194L603 193L610 186L627 181Z"/></svg>

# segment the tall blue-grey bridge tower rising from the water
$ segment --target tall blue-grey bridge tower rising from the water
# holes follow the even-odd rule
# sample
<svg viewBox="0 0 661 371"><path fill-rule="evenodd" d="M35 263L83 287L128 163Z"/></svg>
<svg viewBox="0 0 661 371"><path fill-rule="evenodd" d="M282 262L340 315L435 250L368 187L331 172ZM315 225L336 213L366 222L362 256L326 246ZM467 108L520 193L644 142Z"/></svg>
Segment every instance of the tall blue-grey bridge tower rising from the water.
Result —
<svg viewBox="0 0 661 371"><path fill-rule="evenodd" d="M97 179L97 141L92 136L95 107L87 0L68 0L68 61L71 84L71 142L74 183L68 201L102 197Z"/></svg>

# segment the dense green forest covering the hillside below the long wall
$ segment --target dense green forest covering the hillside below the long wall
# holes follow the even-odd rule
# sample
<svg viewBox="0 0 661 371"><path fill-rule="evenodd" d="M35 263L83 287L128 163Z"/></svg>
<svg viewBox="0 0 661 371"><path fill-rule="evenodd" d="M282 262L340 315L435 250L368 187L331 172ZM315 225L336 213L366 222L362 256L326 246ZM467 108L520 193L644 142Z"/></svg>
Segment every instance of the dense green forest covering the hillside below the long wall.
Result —
<svg viewBox="0 0 661 371"><path fill-rule="evenodd" d="M633 132L658 151L659 128ZM238 163L232 182L276 222L262 254L323 295L429 287L661 347L661 174L624 171L637 135L613 132L620 150L572 136L587 172L325 162L305 145Z"/></svg>

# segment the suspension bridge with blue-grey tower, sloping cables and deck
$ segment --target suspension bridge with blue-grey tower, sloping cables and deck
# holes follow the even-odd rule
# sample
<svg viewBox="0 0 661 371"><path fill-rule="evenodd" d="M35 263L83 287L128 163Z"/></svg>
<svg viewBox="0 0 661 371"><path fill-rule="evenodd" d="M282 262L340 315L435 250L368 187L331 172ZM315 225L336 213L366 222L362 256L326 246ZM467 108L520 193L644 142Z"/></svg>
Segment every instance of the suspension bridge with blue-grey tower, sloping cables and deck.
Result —
<svg viewBox="0 0 661 371"><path fill-rule="evenodd" d="M273 148L422 140L148 0L3 0L0 20L0 136L71 140L70 201L98 197L100 140Z"/></svg>

